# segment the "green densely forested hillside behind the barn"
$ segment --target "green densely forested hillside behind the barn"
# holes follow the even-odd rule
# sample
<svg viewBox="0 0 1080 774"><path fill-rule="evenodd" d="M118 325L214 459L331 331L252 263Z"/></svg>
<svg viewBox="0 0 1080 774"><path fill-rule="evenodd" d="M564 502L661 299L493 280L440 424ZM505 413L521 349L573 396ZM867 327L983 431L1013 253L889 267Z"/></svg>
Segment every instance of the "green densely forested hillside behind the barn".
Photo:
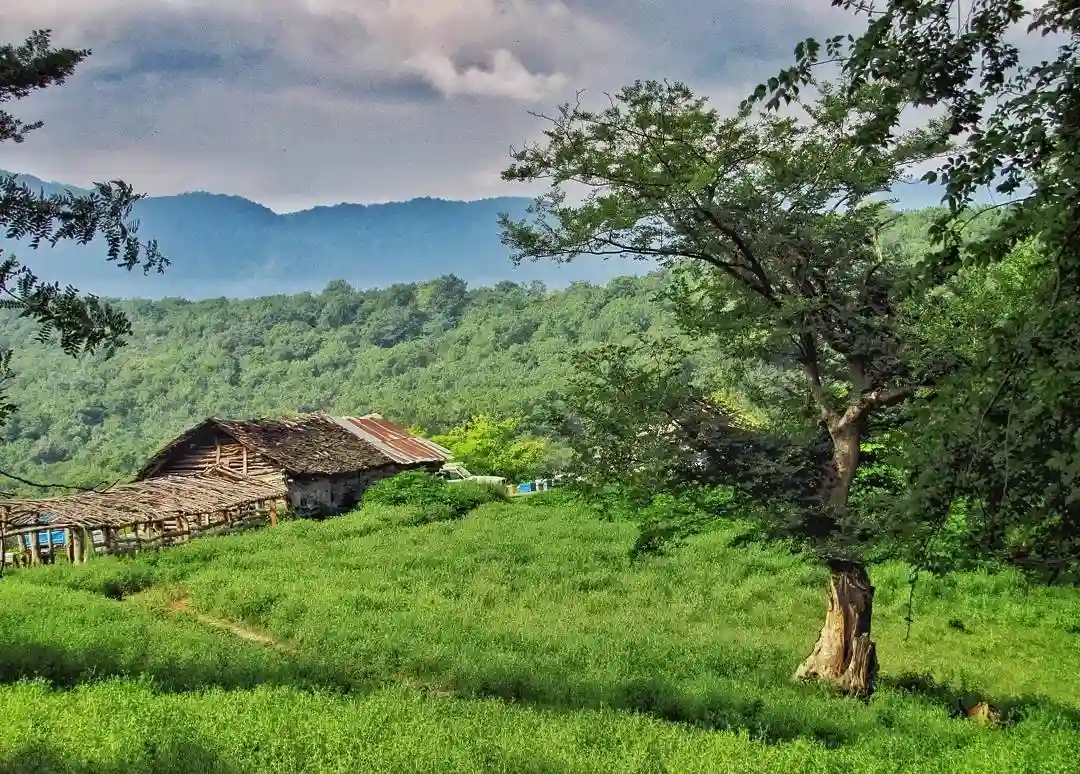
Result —
<svg viewBox="0 0 1080 774"><path fill-rule="evenodd" d="M887 246L922 248L929 215L904 214ZM557 397L573 352L675 335L654 298L663 286L661 273L557 291L445 275L378 290L338 281L318 294L123 301L134 330L110 358L73 359L9 316L0 347L15 353L18 411L0 431L0 465L39 481L114 480L207 416L380 411L430 432L482 412L528 419ZM706 382L726 365L707 351L696 364Z"/></svg>

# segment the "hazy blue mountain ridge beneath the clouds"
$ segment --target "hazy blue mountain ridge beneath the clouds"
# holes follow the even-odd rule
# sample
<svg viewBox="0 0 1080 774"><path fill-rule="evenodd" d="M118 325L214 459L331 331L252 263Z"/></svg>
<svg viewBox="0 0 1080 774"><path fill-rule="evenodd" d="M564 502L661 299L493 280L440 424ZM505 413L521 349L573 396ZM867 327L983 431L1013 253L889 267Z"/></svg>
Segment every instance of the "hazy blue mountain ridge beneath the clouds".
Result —
<svg viewBox="0 0 1080 774"><path fill-rule="evenodd" d="M13 174L2 173L0 174ZM30 175L46 193L85 189ZM514 267L499 239L499 213L522 216L531 200L421 198L387 204L338 204L279 214L243 196L192 192L149 196L135 206L139 234L171 260L163 275L125 272L98 244L62 243L37 252L0 239L44 279L110 297L252 298L318 291L333 280L357 288L421 282L453 272L470 285L539 280L552 287L606 282L646 267L626 259Z"/></svg>

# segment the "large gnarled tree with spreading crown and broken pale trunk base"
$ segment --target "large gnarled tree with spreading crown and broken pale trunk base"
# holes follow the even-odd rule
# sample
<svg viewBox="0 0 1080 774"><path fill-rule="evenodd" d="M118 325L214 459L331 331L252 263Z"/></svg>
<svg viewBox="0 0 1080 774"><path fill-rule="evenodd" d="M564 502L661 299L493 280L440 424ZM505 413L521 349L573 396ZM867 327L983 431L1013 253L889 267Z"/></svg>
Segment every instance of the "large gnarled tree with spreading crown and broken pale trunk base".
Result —
<svg viewBox="0 0 1080 774"><path fill-rule="evenodd" d="M861 444L876 415L950 366L923 357L908 267L881 250L877 235L888 215L873 198L940 152L944 131L928 124L865 150L858 137L877 116L880 90L841 94L822 85L820 93L800 103L804 119L748 109L723 117L677 83L635 83L598 111L564 105L545 117L544 140L514 151L503 173L507 180L546 180L549 191L529 217L503 217L502 227L516 260L626 254L671 267L676 281L667 295L687 330L798 367L825 454L820 475L800 475L804 491L787 502L799 514L794 531L828 565L831 601L797 674L866 695L876 655L864 551L877 530L848 507ZM568 184L585 189L582 201L570 201ZM674 404L663 397L680 381L677 357L659 368L660 391L647 398L647 380L631 378L620 359L609 358L612 378L633 382L627 392L639 405L664 407L684 440L730 470L734 483L754 481L747 490L760 493L770 475L812 465L813 451L783 454L786 469L773 465L779 449L761 439L737 439L759 453L730 453L719 438L731 438L732 427L726 436L702 431L730 425L717 417L723 411L703 411L693 395ZM750 459L768 473L746 471Z"/></svg>

